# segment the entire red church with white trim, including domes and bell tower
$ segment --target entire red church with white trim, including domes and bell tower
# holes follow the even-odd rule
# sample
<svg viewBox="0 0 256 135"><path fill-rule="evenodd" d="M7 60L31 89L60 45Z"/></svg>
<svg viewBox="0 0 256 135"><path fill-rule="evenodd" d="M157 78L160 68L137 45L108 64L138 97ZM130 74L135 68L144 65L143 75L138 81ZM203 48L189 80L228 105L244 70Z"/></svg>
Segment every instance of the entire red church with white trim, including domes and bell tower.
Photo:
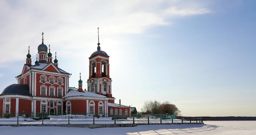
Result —
<svg viewBox="0 0 256 135"><path fill-rule="evenodd" d="M44 33L43 33L44 34ZM42 36L43 36L42 34ZM49 50L49 52L48 52ZM44 44L38 46L38 58L32 65L30 50L26 64L16 78L18 84L9 85L0 94L0 112L2 113L48 113L65 115L86 113L87 115L129 115L132 107L114 103L112 80L110 78L109 56L100 50L89 58L89 78L87 91L82 89L82 80L78 89L69 87L70 73L60 69L58 60L52 62L52 54Z"/></svg>

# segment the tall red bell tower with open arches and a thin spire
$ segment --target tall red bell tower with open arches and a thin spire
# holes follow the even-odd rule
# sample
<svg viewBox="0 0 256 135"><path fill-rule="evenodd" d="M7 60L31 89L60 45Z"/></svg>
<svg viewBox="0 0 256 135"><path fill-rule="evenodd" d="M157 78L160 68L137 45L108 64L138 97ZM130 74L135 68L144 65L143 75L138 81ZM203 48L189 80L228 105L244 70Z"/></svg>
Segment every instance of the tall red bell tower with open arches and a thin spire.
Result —
<svg viewBox="0 0 256 135"><path fill-rule="evenodd" d="M100 49L99 28L98 28L98 47L89 58L89 79L87 89L90 92L112 97L112 85L109 75L109 56ZM112 97L114 99L114 97ZM113 100L114 101L114 100Z"/></svg>

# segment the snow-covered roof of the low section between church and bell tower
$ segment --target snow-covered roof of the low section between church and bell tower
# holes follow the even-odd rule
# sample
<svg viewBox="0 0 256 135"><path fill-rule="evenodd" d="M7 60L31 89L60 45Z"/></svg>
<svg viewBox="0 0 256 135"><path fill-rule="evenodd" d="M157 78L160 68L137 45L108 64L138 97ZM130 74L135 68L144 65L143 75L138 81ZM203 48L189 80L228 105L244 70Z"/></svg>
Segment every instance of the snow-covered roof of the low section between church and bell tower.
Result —
<svg viewBox="0 0 256 135"><path fill-rule="evenodd" d="M96 94L88 91L79 92L78 89L74 87L69 87L68 89L69 91L65 95L65 97L73 97L73 96L106 97L104 95L100 95L100 94ZM65 98L65 97L62 97L62 98Z"/></svg>

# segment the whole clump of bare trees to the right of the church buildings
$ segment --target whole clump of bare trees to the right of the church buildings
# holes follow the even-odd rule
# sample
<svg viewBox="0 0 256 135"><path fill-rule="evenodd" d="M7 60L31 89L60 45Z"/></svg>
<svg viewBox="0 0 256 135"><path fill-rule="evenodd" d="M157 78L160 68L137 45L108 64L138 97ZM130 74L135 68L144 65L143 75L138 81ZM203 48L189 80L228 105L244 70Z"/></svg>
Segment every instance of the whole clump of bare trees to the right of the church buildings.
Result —
<svg viewBox="0 0 256 135"><path fill-rule="evenodd" d="M176 105L165 101L163 103L159 101L145 101L142 107L142 113L153 113L153 114L166 114L169 115L180 115L180 110Z"/></svg>

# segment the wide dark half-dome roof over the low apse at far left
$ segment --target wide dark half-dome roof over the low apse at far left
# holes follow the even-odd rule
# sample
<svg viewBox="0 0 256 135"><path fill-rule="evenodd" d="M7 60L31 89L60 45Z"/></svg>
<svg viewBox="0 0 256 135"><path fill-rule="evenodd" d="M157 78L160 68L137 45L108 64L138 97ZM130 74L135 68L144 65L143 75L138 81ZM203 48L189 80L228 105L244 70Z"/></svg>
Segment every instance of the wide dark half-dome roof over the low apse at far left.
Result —
<svg viewBox="0 0 256 135"><path fill-rule="evenodd" d="M26 95L31 96L29 87L26 84L12 84L7 86L0 95Z"/></svg>

